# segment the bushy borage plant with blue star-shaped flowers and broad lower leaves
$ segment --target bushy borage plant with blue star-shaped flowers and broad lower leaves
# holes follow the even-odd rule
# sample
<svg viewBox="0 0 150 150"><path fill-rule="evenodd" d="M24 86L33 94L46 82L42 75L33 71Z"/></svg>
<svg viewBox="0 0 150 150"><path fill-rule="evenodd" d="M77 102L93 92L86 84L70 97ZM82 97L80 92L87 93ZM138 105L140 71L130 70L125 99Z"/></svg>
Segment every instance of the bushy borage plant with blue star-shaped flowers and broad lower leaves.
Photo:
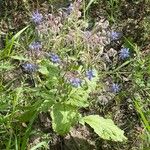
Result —
<svg viewBox="0 0 150 150"><path fill-rule="evenodd" d="M80 113L90 106L90 93L100 83L95 61L111 40L107 27L101 26L102 21L88 30L88 22L81 16L81 2L71 6L69 13L67 8L58 15L33 13L38 40L29 42L26 53L30 62L25 62L22 69L32 77L35 87L23 88L25 95L30 91L32 105L17 119L25 122L42 111L50 111L52 128L59 135L66 135L80 123L91 126L103 139L126 140L124 132L111 119Z"/></svg>

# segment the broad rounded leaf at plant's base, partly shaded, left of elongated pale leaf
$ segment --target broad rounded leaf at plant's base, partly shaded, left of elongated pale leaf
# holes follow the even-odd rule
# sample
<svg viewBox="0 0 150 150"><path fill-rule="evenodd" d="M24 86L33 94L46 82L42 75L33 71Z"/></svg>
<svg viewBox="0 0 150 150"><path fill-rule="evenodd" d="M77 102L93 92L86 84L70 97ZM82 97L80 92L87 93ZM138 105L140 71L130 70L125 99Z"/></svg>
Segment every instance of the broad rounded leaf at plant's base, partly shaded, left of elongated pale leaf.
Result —
<svg viewBox="0 0 150 150"><path fill-rule="evenodd" d="M78 121L79 114L75 107L63 103L57 103L51 111L51 117L53 130L60 135L65 135Z"/></svg>

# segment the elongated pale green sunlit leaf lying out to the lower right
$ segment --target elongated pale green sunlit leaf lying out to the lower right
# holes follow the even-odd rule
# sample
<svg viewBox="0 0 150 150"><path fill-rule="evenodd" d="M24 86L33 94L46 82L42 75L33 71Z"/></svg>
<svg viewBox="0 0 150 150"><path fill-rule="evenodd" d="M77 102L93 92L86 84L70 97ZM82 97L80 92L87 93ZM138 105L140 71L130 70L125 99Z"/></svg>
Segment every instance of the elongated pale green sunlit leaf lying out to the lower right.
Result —
<svg viewBox="0 0 150 150"><path fill-rule="evenodd" d="M89 124L101 138L106 140L120 141L126 140L124 131L119 129L111 119L104 119L99 115L90 115L81 120Z"/></svg>

